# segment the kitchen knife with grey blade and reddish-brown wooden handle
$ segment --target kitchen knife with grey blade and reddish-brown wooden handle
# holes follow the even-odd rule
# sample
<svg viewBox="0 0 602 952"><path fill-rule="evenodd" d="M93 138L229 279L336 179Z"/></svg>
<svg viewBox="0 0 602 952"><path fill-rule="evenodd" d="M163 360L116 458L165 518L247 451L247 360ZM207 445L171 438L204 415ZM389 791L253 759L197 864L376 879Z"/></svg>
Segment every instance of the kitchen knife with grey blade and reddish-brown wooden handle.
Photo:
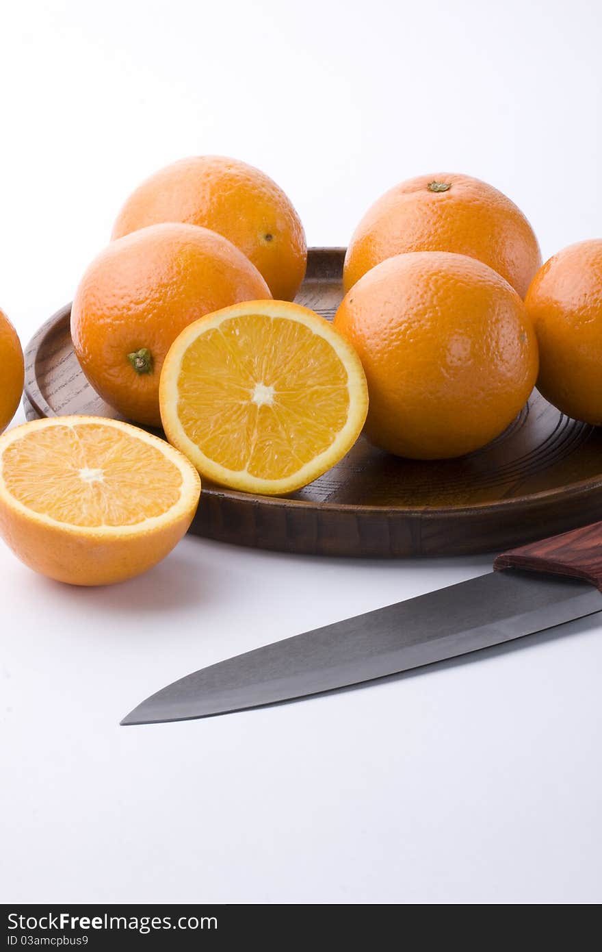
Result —
<svg viewBox="0 0 602 952"><path fill-rule="evenodd" d="M602 522L524 545L494 571L211 664L122 724L210 717L360 684L602 609ZM600 590L599 590L600 589Z"/></svg>

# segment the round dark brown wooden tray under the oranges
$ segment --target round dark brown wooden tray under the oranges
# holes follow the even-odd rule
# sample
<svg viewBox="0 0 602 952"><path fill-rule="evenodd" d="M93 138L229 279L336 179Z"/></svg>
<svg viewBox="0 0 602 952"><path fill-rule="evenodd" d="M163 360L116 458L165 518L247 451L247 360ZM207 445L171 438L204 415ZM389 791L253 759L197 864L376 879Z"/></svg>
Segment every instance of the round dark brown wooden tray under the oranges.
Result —
<svg viewBox="0 0 602 952"><path fill-rule="evenodd" d="M298 301L331 318L344 249L313 248ZM69 307L26 351L28 419L116 416L87 384L71 347ZM602 430L534 393L514 423L459 460L399 460L363 438L330 472L286 498L204 483L192 532L237 545L340 556L499 551L602 519Z"/></svg>

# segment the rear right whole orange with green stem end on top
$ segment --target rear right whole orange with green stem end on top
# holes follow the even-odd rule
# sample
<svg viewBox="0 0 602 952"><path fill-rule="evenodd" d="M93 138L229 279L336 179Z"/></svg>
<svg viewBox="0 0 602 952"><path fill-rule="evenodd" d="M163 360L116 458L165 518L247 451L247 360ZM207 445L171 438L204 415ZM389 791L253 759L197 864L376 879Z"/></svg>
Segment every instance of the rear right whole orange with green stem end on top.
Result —
<svg viewBox="0 0 602 952"><path fill-rule="evenodd" d="M541 267L533 228L515 203L486 182L449 172L402 182L368 209L347 249L345 290L405 251L467 254L494 268L522 298Z"/></svg>

